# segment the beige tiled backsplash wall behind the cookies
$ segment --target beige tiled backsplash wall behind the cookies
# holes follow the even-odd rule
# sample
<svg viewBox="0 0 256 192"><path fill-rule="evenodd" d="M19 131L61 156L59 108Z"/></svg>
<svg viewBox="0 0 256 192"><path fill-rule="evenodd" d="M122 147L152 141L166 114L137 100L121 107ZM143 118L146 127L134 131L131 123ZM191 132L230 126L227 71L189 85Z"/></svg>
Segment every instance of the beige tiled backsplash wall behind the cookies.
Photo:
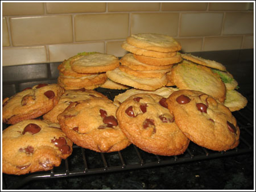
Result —
<svg viewBox="0 0 256 192"><path fill-rule="evenodd" d="M3 2L3 66L79 52L125 55L131 34L173 36L183 52L254 48L253 2Z"/></svg>

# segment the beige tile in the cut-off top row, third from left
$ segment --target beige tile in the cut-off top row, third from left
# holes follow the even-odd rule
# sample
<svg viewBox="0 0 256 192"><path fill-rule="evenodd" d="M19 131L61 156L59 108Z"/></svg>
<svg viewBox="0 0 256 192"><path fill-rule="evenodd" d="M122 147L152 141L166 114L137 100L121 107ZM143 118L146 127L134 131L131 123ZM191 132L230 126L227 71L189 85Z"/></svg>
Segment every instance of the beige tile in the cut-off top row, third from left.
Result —
<svg viewBox="0 0 256 192"><path fill-rule="evenodd" d="M159 11L160 3L108 3L108 11Z"/></svg>

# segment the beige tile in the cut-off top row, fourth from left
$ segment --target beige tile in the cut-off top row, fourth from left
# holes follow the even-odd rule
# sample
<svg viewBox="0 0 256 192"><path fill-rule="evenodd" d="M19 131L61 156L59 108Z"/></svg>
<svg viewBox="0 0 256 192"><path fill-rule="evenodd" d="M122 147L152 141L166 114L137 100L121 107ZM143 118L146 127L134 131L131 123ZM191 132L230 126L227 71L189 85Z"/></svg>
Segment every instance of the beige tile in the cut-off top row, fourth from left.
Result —
<svg viewBox="0 0 256 192"><path fill-rule="evenodd" d="M207 3L162 3L162 11L205 11Z"/></svg>

